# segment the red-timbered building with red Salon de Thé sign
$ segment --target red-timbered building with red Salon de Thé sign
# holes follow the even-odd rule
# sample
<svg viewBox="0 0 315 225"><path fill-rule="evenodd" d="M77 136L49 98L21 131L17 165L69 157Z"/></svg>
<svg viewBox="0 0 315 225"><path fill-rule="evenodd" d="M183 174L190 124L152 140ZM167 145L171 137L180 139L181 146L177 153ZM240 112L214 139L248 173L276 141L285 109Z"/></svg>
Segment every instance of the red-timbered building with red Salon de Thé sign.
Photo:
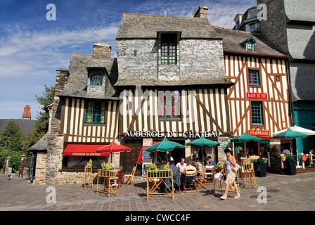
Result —
<svg viewBox="0 0 315 225"><path fill-rule="evenodd" d="M272 135L290 127L286 63L288 56L276 51L262 34L214 27L223 37L226 77L235 83L228 89L232 136L248 132L263 139L248 143L252 154L266 156L278 145ZM243 143L237 143L243 148Z"/></svg>

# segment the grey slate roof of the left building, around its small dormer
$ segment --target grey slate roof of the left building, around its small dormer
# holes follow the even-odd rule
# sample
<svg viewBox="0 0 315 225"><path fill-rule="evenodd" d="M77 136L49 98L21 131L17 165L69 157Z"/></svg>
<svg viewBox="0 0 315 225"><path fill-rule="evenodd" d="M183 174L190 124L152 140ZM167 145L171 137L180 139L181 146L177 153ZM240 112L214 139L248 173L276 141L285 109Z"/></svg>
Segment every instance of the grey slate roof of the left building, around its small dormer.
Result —
<svg viewBox="0 0 315 225"><path fill-rule="evenodd" d="M87 92L89 79L87 68L105 68L107 72L105 76L105 91ZM89 55L72 53L68 69L70 73L68 82L58 96L117 100L119 96L116 95L113 86L117 81L117 70L116 58L98 60Z"/></svg>

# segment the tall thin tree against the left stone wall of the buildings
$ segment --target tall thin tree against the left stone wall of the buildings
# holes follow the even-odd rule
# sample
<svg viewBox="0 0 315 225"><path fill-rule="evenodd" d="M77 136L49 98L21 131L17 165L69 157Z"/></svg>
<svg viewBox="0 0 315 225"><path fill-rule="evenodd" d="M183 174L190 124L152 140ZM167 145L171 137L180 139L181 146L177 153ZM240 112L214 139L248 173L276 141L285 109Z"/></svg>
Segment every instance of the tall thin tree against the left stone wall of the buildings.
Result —
<svg viewBox="0 0 315 225"><path fill-rule="evenodd" d="M53 97L55 96L55 87L54 86L45 86L44 92L42 92L42 96L35 95L35 99L39 104L42 105L41 112L37 112L39 116L36 117L37 121L34 124L34 129L32 132L27 134L25 139L24 148L30 148L30 146L34 145L41 139L42 136L46 134L49 129L49 110L47 108L48 105L53 103Z"/></svg>

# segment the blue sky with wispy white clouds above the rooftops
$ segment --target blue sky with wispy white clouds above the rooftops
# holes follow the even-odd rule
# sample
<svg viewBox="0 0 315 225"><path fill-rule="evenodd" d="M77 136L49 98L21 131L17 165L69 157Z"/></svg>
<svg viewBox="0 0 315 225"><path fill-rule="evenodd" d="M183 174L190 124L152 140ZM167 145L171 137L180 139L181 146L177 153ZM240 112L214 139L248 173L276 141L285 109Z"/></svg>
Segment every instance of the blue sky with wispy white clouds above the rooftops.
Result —
<svg viewBox="0 0 315 225"><path fill-rule="evenodd" d="M56 6L56 20L46 20L47 4ZM68 68L71 53L91 55L93 42L112 46L122 13L193 16L207 6L212 25L232 28L237 13L256 0L1 0L0 1L0 119L20 119L25 105L36 120L46 86L54 86L56 70Z"/></svg>

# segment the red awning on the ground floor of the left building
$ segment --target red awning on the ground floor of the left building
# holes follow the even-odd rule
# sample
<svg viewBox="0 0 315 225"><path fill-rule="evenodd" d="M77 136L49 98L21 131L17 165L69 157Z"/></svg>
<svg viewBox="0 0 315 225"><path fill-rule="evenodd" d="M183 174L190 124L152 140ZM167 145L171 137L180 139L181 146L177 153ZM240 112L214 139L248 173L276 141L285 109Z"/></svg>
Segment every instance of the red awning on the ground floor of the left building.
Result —
<svg viewBox="0 0 315 225"><path fill-rule="evenodd" d="M96 153L98 148L105 145L68 144L63 155L71 156L109 156L110 153Z"/></svg>

